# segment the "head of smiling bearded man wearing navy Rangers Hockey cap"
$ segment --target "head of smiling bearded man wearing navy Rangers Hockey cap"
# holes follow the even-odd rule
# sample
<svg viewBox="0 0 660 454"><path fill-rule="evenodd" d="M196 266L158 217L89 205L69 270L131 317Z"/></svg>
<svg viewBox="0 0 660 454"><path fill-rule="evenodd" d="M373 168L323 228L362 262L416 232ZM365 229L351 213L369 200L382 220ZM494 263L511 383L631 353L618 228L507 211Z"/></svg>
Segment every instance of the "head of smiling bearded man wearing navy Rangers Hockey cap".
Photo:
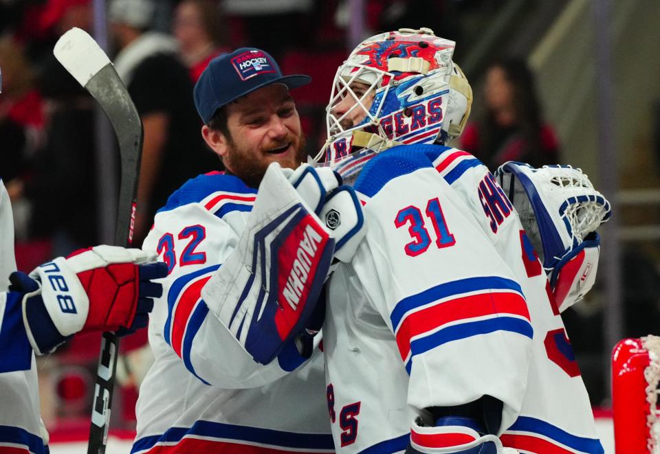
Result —
<svg viewBox="0 0 660 454"><path fill-rule="evenodd" d="M217 77L222 75L222 82ZM282 76L272 57L241 48L211 61L195 86L201 133L225 168L256 188L270 163L306 161L300 117L289 89L308 76Z"/></svg>

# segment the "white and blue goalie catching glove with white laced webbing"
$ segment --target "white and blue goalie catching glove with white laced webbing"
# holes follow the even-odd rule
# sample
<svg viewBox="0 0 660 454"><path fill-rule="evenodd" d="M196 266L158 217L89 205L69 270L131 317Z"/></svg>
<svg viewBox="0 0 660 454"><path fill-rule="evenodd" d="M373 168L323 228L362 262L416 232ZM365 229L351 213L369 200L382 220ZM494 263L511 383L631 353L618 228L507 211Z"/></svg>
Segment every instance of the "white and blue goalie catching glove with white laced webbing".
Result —
<svg viewBox="0 0 660 454"><path fill-rule="evenodd" d="M539 254L560 311L580 301L595 282L599 225L610 203L582 170L509 161L495 173L516 207L522 227Z"/></svg>

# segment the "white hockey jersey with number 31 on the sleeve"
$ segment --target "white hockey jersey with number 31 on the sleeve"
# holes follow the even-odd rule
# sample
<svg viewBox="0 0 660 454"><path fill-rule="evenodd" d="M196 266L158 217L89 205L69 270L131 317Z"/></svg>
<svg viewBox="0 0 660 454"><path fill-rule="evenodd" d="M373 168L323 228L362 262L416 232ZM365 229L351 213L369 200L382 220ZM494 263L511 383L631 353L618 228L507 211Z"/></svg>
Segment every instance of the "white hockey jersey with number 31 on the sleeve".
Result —
<svg viewBox="0 0 660 454"><path fill-rule="evenodd" d="M403 452L423 409L489 395L504 446L603 453L545 273L487 168L400 146L355 190L366 239L331 277L323 328L338 451Z"/></svg>

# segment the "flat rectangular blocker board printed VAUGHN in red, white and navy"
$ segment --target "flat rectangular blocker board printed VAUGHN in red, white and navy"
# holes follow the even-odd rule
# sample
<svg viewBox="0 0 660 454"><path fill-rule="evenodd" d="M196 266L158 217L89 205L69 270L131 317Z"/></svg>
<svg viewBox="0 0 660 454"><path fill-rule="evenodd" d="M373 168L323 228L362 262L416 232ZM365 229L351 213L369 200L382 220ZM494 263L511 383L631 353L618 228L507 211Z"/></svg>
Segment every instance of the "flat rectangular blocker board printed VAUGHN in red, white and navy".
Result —
<svg viewBox="0 0 660 454"><path fill-rule="evenodd" d="M305 327L334 247L314 209L272 163L239 244L201 295L243 349L268 364Z"/></svg>

